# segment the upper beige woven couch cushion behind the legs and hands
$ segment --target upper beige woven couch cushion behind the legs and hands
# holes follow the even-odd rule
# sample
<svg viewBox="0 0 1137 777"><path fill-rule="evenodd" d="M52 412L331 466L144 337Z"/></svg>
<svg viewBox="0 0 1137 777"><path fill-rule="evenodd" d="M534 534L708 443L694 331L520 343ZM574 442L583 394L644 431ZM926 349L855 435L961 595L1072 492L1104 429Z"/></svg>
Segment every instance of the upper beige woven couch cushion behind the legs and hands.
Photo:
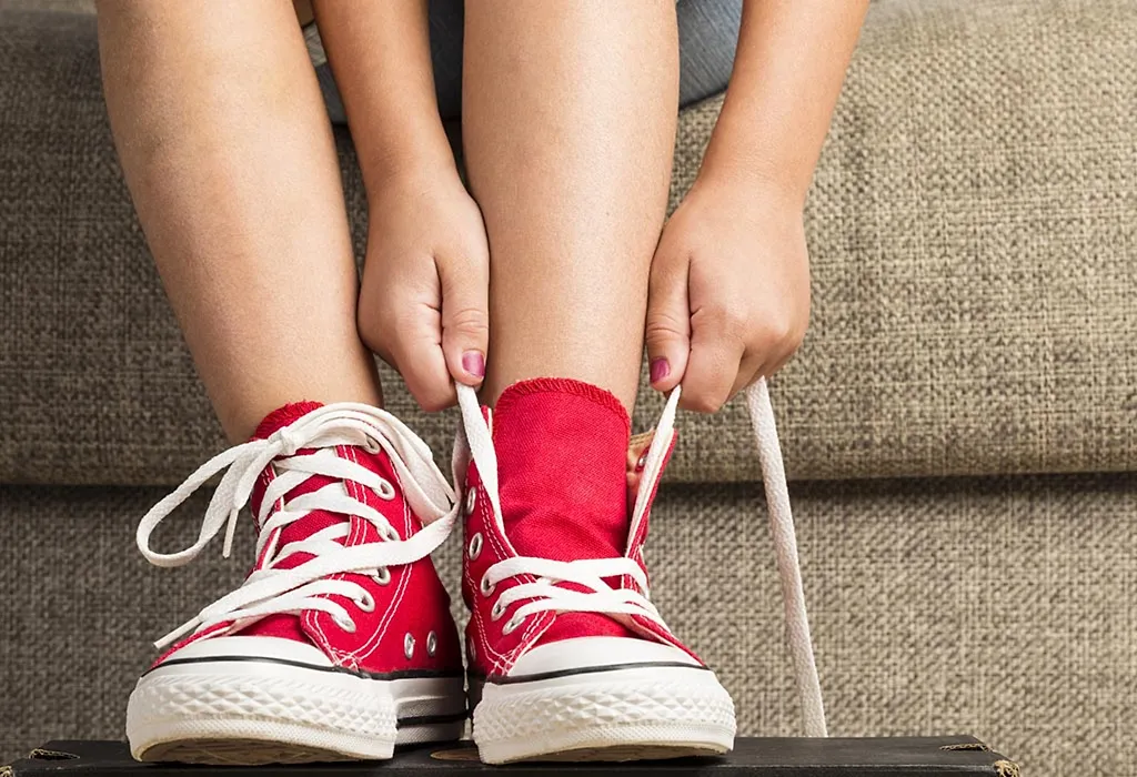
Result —
<svg viewBox="0 0 1137 777"><path fill-rule="evenodd" d="M773 386L791 477L1137 468L1134 61L1132 2L873 3L810 199L812 329ZM717 107L681 118L673 204ZM88 16L0 10L0 482L175 483L222 446ZM445 460L455 416L384 377ZM741 403L680 426L673 479L757 476Z"/></svg>

